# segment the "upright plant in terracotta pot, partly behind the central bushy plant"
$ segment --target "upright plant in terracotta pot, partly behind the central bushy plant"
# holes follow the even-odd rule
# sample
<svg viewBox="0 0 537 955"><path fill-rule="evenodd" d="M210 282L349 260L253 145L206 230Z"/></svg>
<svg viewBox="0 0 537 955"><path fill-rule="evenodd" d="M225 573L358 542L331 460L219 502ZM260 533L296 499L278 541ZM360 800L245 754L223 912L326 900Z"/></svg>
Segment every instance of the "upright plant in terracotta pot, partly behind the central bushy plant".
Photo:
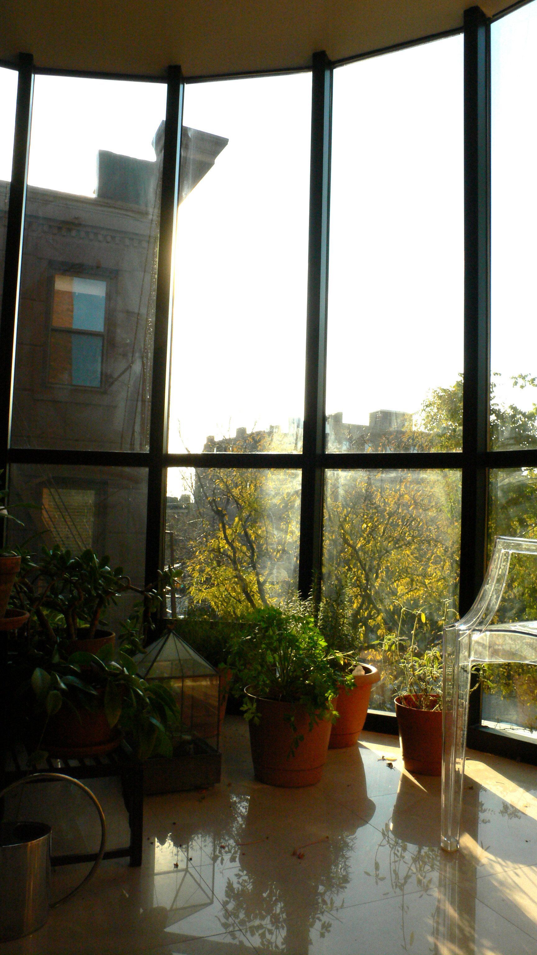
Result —
<svg viewBox="0 0 537 955"><path fill-rule="evenodd" d="M380 673L376 667L359 660L352 607L345 588L333 595L323 595L318 626L331 651L332 665L340 681L339 692L333 701L339 715L333 723L329 749L344 749L354 746L364 728L371 690L378 683ZM352 683L349 683L349 675Z"/></svg>

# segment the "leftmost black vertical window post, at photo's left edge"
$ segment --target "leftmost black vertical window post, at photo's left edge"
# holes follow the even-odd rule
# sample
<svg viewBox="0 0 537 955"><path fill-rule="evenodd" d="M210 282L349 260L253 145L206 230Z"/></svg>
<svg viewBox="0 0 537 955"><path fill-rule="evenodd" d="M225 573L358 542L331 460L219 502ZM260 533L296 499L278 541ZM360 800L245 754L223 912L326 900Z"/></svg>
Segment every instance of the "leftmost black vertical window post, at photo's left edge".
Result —
<svg viewBox="0 0 537 955"><path fill-rule="evenodd" d="M26 179L30 153L32 95L32 53L19 53L10 201L6 227L4 286L2 289L2 311L0 313L0 471L4 472L2 481L5 481L7 477L10 444L11 391L26 205Z"/></svg>

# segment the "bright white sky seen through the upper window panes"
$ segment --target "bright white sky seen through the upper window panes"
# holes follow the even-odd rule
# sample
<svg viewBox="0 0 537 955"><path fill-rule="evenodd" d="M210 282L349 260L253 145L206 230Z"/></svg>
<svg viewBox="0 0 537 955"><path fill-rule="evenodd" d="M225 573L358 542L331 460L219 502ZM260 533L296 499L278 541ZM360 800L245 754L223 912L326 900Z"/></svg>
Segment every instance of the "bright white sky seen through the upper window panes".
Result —
<svg viewBox="0 0 537 955"><path fill-rule="evenodd" d="M535 373L537 4L492 44L492 368ZM164 113L160 83L37 76L29 181L93 195L97 150L154 159ZM179 212L172 451L303 415L310 120L310 74L186 87L184 123L229 142ZM329 414L416 413L462 371L462 197L462 36L337 69Z"/></svg>

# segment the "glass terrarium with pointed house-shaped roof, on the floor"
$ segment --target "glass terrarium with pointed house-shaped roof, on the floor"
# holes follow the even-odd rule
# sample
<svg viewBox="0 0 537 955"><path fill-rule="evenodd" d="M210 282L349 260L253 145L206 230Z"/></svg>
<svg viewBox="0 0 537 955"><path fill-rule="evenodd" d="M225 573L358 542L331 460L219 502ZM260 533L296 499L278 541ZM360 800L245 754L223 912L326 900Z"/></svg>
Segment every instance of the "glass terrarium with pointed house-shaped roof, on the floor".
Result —
<svg viewBox="0 0 537 955"><path fill-rule="evenodd" d="M158 680L170 690L181 712L174 736L174 751L187 752L190 744L203 740L218 750L220 686L218 672L195 649L167 631L136 657L139 675L151 683Z"/></svg>

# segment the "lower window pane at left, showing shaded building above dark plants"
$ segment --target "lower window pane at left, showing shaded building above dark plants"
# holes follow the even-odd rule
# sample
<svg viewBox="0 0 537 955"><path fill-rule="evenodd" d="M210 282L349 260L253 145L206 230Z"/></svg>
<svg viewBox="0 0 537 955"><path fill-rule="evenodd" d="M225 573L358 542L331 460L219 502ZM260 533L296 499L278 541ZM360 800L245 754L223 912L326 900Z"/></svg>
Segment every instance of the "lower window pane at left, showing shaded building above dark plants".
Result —
<svg viewBox="0 0 537 955"><path fill-rule="evenodd" d="M144 468L12 464L8 543L23 545L39 558L42 546L68 547L80 554L91 547L123 567L132 584L143 586L147 471ZM107 611L118 626L135 601L125 594Z"/></svg>

